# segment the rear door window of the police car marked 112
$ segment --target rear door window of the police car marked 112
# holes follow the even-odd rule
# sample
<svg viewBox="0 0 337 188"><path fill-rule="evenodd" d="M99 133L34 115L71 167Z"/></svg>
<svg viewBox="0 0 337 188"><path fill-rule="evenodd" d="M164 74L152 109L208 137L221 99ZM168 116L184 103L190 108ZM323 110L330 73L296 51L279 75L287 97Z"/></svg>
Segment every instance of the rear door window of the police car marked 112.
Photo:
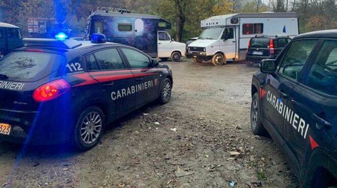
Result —
<svg viewBox="0 0 337 188"><path fill-rule="evenodd" d="M106 49L93 54L102 70L125 68L117 49Z"/></svg>

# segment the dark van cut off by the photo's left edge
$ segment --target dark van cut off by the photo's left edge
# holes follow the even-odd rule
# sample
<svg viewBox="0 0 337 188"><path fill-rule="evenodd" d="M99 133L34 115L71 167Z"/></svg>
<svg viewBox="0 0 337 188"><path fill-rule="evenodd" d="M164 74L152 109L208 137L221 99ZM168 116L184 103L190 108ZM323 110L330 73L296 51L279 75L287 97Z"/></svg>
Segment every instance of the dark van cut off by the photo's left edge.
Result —
<svg viewBox="0 0 337 188"><path fill-rule="evenodd" d="M22 46L20 28L9 23L0 22L0 59Z"/></svg>

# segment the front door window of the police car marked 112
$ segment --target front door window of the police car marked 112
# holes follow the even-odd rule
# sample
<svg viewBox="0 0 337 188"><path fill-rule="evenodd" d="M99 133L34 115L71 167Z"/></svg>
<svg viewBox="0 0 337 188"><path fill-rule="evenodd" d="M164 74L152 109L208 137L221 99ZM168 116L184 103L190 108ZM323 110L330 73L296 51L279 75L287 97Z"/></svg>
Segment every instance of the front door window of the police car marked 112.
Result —
<svg viewBox="0 0 337 188"><path fill-rule="evenodd" d="M122 48L126 58L128 59L131 68L146 68L150 66L150 59L132 49Z"/></svg>

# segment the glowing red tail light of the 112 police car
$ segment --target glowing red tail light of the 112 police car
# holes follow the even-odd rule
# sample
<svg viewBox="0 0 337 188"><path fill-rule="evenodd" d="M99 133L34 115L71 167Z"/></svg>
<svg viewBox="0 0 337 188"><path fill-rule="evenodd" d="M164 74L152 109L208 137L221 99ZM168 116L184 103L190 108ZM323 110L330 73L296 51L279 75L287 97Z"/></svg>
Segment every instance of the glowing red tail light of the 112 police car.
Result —
<svg viewBox="0 0 337 188"><path fill-rule="evenodd" d="M54 80L35 89L33 98L37 102L50 101L63 95L70 87L68 82L63 79Z"/></svg>

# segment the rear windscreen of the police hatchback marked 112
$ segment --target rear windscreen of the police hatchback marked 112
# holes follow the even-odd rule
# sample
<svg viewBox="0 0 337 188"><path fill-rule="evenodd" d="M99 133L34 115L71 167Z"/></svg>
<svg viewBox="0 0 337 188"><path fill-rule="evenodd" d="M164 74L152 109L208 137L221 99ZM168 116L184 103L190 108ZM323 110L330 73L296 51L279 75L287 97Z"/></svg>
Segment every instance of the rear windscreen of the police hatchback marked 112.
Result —
<svg viewBox="0 0 337 188"><path fill-rule="evenodd" d="M0 75L7 76L6 80L33 82L50 75L64 61L56 54L13 52L0 60Z"/></svg>

